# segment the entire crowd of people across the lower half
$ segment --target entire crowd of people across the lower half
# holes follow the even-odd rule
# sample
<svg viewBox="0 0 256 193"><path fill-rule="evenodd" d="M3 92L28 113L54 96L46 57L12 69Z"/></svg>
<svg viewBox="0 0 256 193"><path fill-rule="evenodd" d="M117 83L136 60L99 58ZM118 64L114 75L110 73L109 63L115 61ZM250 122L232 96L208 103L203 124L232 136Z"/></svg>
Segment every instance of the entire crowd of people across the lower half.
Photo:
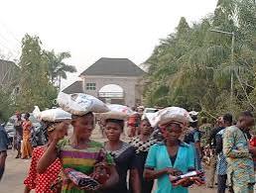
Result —
<svg viewBox="0 0 256 193"><path fill-rule="evenodd" d="M30 114L21 119L17 113L16 157L32 157L24 192L35 189L37 193L151 193L155 189L158 193L186 193L193 185L206 182L208 188L213 188L216 182L218 193L227 190L253 193L256 170L256 138L250 132L254 126L253 114L242 112L235 123L231 114L225 114L212 125L206 118L199 120L197 112L175 110L177 115L173 113L165 119L161 110L157 125L147 117L141 119L140 113L133 114L136 116L128 121L120 117L121 113L116 117L105 116L100 123L106 138L103 144L90 138L95 128L94 113L98 112L84 110L84 114L78 115L72 111L69 118L41 119L48 143L35 147L33 153ZM121 135L126 124L130 127L129 140L123 141ZM67 136L70 126L72 133ZM161 138L156 138L156 133ZM2 177L8 141L2 127L0 138ZM209 171L206 179L205 169ZM195 174L189 176L192 172ZM96 186L81 186L84 181L96 181Z"/></svg>

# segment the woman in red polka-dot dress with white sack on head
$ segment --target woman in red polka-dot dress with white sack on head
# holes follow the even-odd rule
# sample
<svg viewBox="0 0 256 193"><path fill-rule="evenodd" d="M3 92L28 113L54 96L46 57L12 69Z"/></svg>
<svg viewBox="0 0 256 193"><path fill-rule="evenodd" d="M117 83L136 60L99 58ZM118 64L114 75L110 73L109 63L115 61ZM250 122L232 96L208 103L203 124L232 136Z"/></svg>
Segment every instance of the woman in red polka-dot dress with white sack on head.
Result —
<svg viewBox="0 0 256 193"><path fill-rule="evenodd" d="M64 131L63 138L65 136L65 130L68 128L68 122L67 120L71 119L71 116L64 112L63 110L57 110L57 109L51 109L47 110L45 112L40 112L40 114L56 114L56 111L58 111L55 118L51 118L51 116L45 116L45 117L37 117L41 121L44 122L47 128L47 136L48 136L48 143L43 146L38 146L33 150L32 155L32 161L30 165L30 170L27 178L24 181L25 184L25 190L24 193L29 193L31 190L35 189L36 193L58 193L58 190L52 190L51 185L54 181L58 179L58 175L61 172L62 164L59 159L56 159L44 173L38 173L37 172L37 164L39 159L42 157L48 146L53 142L54 137L56 133L58 133L59 130ZM61 112L61 113L60 113ZM62 119L59 120L60 115L62 116ZM65 116L63 116L65 115ZM51 120L51 121L49 121ZM66 121L65 121L66 120Z"/></svg>

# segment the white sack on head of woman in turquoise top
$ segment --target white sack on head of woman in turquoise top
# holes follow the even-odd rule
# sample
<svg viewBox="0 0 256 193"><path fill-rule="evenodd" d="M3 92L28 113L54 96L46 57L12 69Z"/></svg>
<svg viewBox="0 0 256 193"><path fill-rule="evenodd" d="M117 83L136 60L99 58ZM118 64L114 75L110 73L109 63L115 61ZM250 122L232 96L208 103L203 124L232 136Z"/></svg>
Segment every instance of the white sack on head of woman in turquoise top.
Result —
<svg viewBox="0 0 256 193"><path fill-rule="evenodd" d="M148 117L152 127L164 125L171 121L187 125L192 122L189 112L181 107L167 107Z"/></svg>

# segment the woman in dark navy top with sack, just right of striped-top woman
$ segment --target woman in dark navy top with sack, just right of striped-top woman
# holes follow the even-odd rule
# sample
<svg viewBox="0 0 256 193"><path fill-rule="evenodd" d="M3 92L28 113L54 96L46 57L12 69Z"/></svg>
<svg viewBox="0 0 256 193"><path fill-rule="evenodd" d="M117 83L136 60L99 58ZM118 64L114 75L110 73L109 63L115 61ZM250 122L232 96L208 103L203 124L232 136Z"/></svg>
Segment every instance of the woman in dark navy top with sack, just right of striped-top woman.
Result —
<svg viewBox="0 0 256 193"><path fill-rule="evenodd" d="M112 104L108 107L110 112L101 114L101 118L105 123L105 135L108 140L104 143L104 147L115 161L119 181L115 186L103 190L102 193L140 193L140 179L138 164L135 159L135 148L120 140L124 132L125 121L133 111L127 106L117 104ZM129 188L127 187L128 170Z"/></svg>

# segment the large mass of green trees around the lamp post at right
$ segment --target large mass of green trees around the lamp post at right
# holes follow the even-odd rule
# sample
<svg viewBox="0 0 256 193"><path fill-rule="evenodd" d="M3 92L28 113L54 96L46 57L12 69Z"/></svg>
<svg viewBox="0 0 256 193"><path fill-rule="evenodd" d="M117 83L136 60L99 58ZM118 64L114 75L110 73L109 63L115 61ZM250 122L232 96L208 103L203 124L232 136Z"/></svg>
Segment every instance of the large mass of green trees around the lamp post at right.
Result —
<svg viewBox="0 0 256 193"><path fill-rule="evenodd" d="M234 32L231 36L210 29ZM146 63L145 101L176 105L217 116L256 107L256 6L252 0L219 0L212 16L190 27L185 18L176 33L161 40ZM230 77L234 91L230 98Z"/></svg>

